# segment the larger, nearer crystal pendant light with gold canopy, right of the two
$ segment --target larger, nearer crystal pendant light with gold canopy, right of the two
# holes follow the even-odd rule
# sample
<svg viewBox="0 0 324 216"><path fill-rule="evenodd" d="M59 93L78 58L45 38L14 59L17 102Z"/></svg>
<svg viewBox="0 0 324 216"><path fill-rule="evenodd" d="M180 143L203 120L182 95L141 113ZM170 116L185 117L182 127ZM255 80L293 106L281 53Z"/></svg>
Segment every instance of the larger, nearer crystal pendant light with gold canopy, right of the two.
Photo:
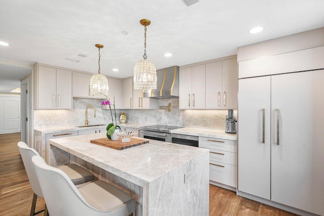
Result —
<svg viewBox="0 0 324 216"><path fill-rule="evenodd" d="M148 19L142 19L140 23L144 26L144 55L143 60L137 62L134 67L134 89L139 90L152 90L156 89L156 68L155 65L147 60L146 55L146 26L151 21Z"/></svg>

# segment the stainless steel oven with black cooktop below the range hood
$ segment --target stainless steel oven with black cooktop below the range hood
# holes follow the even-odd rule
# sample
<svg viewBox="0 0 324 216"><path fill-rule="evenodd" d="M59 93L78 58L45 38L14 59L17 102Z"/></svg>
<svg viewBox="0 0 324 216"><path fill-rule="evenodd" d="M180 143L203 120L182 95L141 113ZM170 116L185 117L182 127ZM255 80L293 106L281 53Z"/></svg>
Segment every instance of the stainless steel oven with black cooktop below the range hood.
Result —
<svg viewBox="0 0 324 216"><path fill-rule="evenodd" d="M168 126L168 125L150 125L140 127L140 137L159 140L171 143L171 130L181 128L180 126Z"/></svg>

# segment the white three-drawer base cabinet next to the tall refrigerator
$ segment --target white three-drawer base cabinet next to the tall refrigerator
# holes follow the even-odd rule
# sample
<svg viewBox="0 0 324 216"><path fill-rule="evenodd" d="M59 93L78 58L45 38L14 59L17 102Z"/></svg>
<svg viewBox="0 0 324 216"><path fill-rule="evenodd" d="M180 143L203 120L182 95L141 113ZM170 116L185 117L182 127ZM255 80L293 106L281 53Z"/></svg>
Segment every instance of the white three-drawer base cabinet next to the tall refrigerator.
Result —
<svg viewBox="0 0 324 216"><path fill-rule="evenodd" d="M236 190L237 141L199 137L198 145L200 148L208 148L210 152L210 183L230 190Z"/></svg>

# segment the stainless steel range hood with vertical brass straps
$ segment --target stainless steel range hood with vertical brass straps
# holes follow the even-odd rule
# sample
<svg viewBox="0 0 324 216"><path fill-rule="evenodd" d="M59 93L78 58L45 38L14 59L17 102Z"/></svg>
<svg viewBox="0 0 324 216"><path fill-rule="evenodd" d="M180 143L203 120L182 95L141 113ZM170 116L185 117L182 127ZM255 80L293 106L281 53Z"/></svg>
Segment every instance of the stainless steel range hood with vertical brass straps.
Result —
<svg viewBox="0 0 324 216"><path fill-rule="evenodd" d="M156 71L157 87L144 92L145 98L178 98L179 67L173 66Z"/></svg>

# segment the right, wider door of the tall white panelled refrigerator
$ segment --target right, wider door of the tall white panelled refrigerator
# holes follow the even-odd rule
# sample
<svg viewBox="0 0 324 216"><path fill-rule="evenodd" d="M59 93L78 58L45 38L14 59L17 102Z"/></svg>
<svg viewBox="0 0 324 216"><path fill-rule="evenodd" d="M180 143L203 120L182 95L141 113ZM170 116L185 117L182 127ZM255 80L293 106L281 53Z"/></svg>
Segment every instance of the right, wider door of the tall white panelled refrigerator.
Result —
<svg viewBox="0 0 324 216"><path fill-rule="evenodd" d="M271 200L319 215L324 215L323 80L324 70L271 77Z"/></svg>

